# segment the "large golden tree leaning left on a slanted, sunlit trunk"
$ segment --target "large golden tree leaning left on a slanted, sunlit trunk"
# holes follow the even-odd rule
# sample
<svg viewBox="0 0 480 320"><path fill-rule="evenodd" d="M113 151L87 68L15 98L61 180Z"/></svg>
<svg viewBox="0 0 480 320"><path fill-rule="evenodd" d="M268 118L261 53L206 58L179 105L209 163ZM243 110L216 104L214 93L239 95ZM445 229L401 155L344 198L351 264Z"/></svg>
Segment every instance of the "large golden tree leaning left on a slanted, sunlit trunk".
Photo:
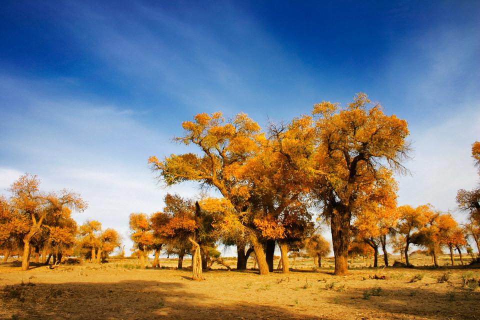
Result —
<svg viewBox="0 0 480 320"><path fill-rule="evenodd" d="M197 146L200 154L172 154L163 160L151 156L148 159L151 168L167 185L197 181L203 186L215 188L231 203L236 219L249 222L251 219L243 219L254 213L249 202L249 185L247 181L238 179L237 174L245 162L258 152L258 140L263 138L258 124L244 113L238 113L231 121L225 122L222 114L215 112L211 115L197 114L193 121L184 121L182 127L185 133L176 140ZM257 232L246 224L243 230L255 251L260 274L268 273ZM240 241L236 245L239 248L238 260L243 260L245 242Z"/></svg>

